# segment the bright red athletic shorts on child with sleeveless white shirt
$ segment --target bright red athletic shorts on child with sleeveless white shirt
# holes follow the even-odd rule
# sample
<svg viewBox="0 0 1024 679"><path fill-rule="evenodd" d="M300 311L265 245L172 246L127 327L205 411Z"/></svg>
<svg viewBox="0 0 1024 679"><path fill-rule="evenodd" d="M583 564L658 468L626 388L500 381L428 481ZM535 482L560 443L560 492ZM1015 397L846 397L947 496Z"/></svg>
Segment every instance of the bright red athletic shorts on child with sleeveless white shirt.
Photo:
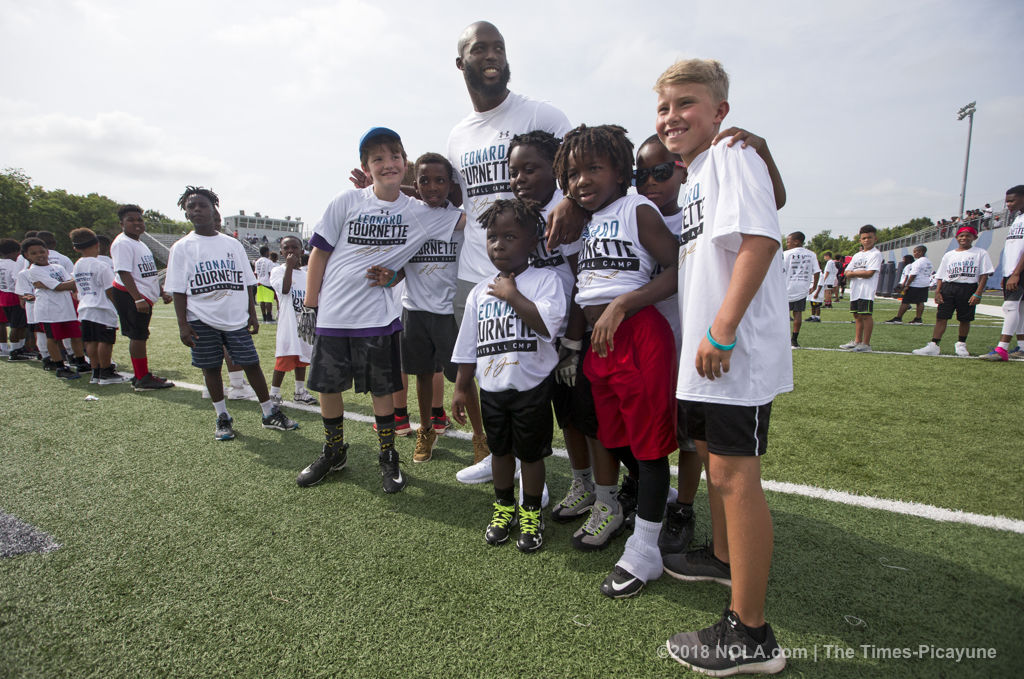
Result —
<svg viewBox="0 0 1024 679"><path fill-rule="evenodd" d="M677 360L672 328L653 306L618 326L607 356L587 352L583 372L605 448L629 445L637 460L658 460L676 450Z"/></svg>

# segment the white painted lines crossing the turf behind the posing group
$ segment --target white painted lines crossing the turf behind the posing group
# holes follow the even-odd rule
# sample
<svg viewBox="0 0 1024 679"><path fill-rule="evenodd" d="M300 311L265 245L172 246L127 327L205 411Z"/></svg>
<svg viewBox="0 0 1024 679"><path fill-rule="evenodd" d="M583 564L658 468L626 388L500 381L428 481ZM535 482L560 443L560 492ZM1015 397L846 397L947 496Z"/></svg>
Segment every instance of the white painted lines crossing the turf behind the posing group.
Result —
<svg viewBox="0 0 1024 679"><path fill-rule="evenodd" d="M839 351L840 349L820 349L820 350ZM882 351L879 351L878 353L882 353ZM955 358L956 356L948 356L948 357ZM203 390L203 386L200 384L189 384L187 382L175 382L174 384L175 386L179 386L184 389L191 389L194 391ZM255 398L250 398L248 400L255 400ZM307 413L319 414L319 408L317 408L316 406L306 406L305 404L296 404L291 400L286 402L288 404L288 407L291 409L306 411ZM367 424L372 424L373 422L375 422L374 418L370 415L362 415L360 413L349 413L348 411L345 411L345 419L352 420L354 422L365 422ZM419 423L410 420L409 426L418 428ZM449 436L450 438L461 438L463 440L469 440L469 441L473 440L472 433L457 429L449 429L446 432L444 432L444 435ZM565 452L564 448L555 448L552 449L552 451L555 457L562 458L563 460L568 460L569 456L568 453ZM671 467L671 472L672 474L678 476L679 468L673 465ZM705 478L703 473L700 474L700 477ZM972 512L964 512L957 509L945 509L944 507L934 507L932 505L925 505L919 502L904 502L902 500L885 500L882 498L873 498L871 496L846 493L844 491L820 489L814 485L788 483L786 481L773 481L767 478L762 479L761 485L766 491L771 491L773 493L783 493L785 495L799 495L805 498L825 500L826 502L836 502L842 505L865 507L867 509L879 509L882 511L892 512L894 514L906 514L908 516L919 516L921 518L927 518L933 521L967 523L969 525L977 525L983 528L994 528L996 531L1008 531L1010 533L1017 533L1020 535L1024 535L1024 520L1009 518L1007 516L989 516L987 514L974 514Z"/></svg>

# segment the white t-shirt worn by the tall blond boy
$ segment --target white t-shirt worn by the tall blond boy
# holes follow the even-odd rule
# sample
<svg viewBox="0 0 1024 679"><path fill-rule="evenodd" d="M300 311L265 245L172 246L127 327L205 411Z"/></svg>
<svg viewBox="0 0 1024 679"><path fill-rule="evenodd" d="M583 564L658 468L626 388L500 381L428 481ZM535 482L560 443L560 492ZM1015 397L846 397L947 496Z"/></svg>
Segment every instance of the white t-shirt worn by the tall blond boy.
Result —
<svg viewBox="0 0 1024 679"><path fill-rule="evenodd" d="M736 329L729 372L709 380L697 374L695 359L722 306L743 237L761 236L781 245L768 168L754 148L718 144L697 156L687 173L679 194L683 230L678 294L683 342L676 397L762 406L793 390L781 248L772 255L768 272Z"/></svg>

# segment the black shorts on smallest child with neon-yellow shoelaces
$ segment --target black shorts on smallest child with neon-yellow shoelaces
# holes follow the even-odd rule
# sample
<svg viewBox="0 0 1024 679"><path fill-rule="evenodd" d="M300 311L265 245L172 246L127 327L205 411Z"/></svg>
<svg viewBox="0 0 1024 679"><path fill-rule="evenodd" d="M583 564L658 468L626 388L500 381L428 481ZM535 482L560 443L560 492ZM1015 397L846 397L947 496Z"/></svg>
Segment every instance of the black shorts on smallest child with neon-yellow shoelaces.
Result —
<svg viewBox="0 0 1024 679"><path fill-rule="evenodd" d="M480 389L480 416L492 455L514 455L523 462L551 455L551 383L548 377L528 391Z"/></svg>

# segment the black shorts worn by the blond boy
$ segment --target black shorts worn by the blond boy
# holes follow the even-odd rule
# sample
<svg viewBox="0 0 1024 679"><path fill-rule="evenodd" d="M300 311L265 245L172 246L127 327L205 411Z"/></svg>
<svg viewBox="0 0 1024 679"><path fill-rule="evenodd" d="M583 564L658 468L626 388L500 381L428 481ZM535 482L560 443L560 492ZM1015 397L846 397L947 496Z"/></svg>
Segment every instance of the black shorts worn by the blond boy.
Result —
<svg viewBox="0 0 1024 679"><path fill-rule="evenodd" d="M768 420L771 401L764 406L727 406L696 400L678 400L680 434L708 441L715 455L760 457L768 451Z"/></svg>

